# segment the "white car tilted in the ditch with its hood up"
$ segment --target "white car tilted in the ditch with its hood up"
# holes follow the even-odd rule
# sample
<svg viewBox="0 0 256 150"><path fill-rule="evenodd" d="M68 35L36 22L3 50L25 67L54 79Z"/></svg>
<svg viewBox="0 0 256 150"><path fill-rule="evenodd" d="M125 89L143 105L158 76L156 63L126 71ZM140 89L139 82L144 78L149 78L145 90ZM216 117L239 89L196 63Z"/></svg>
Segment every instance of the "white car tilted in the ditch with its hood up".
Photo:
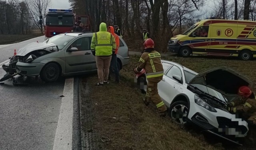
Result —
<svg viewBox="0 0 256 150"><path fill-rule="evenodd" d="M253 82L228 67L211 68L198 74L175 62L162 60L162 65L164 76L158 83L158 93L172 120L177 124L192 122L239 144L238 140L247 135L248 123L230 114L224 105L237 98L240 86L252 87ZM145 76L138 77L137 82Z"/></svg>

